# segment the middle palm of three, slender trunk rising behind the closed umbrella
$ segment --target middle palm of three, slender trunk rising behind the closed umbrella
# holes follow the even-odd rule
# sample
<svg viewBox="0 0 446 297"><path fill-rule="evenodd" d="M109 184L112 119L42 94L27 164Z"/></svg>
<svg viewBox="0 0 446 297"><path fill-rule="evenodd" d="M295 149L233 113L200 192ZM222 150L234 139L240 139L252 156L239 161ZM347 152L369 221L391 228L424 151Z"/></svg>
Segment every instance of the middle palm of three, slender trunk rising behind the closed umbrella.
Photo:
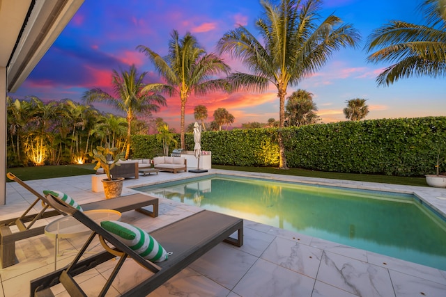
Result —
<svg viewBox="0 0 446 297"><path fill-rule="evenodd" d="M139 51L151 59L155 68L167 84L157 86L170 95L178 95L181 100L180 143L185 149L185 105L187 97L206 95L210 91L227 90L224 79L213 79L219 74L228 74L231 68L216 54L206 54L199 47L197 39L190 33L180 39L178 31L171 33L169 54L162 58L148 47L139 45Z"/></svg>

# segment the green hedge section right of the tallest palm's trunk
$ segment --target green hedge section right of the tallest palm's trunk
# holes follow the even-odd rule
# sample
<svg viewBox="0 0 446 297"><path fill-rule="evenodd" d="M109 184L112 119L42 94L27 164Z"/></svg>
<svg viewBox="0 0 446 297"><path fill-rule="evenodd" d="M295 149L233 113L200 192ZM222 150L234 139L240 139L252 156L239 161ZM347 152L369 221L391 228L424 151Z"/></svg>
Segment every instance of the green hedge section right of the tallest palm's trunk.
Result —
<svg viewBox="0 0 446 297"><path fill-rule="evenodd" d="M420 176L435 172L446 117L337 122L287 131L289 167ZM443 168L444 169L444 168Z"/></svg>

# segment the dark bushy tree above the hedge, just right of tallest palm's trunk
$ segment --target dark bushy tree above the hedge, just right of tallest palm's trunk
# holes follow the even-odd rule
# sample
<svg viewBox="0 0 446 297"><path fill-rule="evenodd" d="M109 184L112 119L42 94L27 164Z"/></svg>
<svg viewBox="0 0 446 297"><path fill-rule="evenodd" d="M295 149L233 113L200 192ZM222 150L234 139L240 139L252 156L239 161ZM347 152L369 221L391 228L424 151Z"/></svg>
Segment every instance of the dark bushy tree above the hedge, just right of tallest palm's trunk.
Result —
<svg viewBox="0 0 446 297"><path fill-rule="evenodd" d="M319 120L315 111L318 111L313 102L313 94L298 89L289 96L285 106L285 125L297 126L314 124Z"/></svg>

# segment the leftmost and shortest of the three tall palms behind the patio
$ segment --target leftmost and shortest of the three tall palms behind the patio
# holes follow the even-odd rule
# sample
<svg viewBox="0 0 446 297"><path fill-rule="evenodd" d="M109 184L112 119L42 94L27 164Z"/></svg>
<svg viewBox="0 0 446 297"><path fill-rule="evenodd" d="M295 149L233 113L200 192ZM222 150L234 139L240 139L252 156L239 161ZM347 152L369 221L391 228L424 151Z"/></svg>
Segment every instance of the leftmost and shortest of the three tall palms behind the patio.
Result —
<svg viewBox="0 0 446 297"><path fill-rule="evenodd" d="M127 148L125 159L130 154L130 136L132 130L132 120L136 114L151 115L152 112L160 110L160 106L167 106L166 99L161 95L153 93L153 86L144 83L147 72L137 74L134 65L129 71L122 71L121 74L113 70L112 84L116 97L109 95L100 88L93 88L84 93L82 99L86 102L104 101L114 106L119 111L127 114ZM148 88L145 88L148 87Z"/></svg>

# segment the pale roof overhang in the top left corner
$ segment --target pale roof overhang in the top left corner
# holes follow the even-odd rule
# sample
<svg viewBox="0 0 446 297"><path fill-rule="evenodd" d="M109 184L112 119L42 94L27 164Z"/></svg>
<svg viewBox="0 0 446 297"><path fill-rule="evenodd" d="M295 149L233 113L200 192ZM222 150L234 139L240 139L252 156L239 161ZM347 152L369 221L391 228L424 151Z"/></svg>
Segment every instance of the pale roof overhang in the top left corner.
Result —
<svg viewBox="0 0 446 297"><path fill-rule="evenodd" d="M84 0L0 0L0 67L14 93Z"/></svg>

